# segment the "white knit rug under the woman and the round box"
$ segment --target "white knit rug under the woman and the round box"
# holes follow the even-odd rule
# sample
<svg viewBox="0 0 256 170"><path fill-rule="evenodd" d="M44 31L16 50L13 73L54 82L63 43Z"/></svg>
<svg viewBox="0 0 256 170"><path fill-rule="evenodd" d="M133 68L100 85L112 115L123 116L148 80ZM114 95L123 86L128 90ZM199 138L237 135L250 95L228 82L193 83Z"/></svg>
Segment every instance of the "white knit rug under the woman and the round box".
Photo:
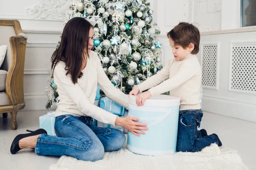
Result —
<svg viewBox="0 0 256 170"><path fill-rule="evenodd" d="M197 153L179 152L166 156L143 156L123 148L105 152L102 160L81 161L62 156L49 170L249 170L237 151L212 144Z"/></svg>

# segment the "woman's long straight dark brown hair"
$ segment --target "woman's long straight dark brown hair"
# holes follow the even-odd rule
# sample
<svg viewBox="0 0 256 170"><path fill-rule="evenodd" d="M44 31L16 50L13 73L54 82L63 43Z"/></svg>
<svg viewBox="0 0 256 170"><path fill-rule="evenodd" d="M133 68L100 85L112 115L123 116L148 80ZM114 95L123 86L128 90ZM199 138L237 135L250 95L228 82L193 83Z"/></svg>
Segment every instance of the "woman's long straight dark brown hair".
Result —
<svg viewBox="0 0 256 170"><path fill-rule="evenodd" d="M71 74L72 82L77 83L78 78L83 75L81 67L86 59L84 49L88 49L90 28L93 26L81 17L74 17L67 22L61 35L61 43L52 54L52 75L55 65L63 61L66 63L66 75ZM89 57L88 52L87 56Z"/></svg>

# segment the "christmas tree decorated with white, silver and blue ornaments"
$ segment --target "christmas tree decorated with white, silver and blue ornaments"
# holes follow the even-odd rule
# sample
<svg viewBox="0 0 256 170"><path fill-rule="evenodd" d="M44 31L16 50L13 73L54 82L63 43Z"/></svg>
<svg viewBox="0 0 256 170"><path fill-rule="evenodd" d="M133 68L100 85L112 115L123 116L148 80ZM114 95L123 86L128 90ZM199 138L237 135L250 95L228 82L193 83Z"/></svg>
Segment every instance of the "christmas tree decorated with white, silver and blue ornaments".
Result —
<svg viewBox="0 0 256 170"><path fill-rule="evenodd" d="M152 22L153 11L147 0L73 1L66 14L68 20L83 17L93 25L92 50L98 54L113 85L125 94L163 68L162 43L155 40L160 28ZM51 90L46 88L46 108L58 102L52 76L50 85Z"/></svg>

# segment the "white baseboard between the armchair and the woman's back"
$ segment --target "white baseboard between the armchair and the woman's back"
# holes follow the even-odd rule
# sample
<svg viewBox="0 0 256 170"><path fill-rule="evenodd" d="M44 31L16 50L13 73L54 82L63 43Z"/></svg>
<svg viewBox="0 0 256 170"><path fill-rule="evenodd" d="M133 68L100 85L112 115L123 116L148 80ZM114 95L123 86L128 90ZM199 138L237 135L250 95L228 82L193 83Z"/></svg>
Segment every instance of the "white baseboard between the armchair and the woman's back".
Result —
<svg viewBox="0 0 256 170"><path fill-rule="evenodd" d="M26 106L22 111L39 111L46 110L45 105L48 101L48 97L46 94L24 95L24 100Z"/></svg>

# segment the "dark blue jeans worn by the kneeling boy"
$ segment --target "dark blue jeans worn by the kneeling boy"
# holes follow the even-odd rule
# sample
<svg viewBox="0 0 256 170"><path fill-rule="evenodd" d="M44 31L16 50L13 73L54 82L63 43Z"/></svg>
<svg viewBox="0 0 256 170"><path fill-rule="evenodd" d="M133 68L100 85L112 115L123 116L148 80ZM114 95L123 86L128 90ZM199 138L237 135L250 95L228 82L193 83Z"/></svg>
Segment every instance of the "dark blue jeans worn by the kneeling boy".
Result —
<svg viewBox="0 0 256 170"><path fill-rule="evenodd" d="M218 144L214 135L201 136L197 127L200 127L202 117L201 109L179 112L177 152L198 152L212 143Z"/></svg>

